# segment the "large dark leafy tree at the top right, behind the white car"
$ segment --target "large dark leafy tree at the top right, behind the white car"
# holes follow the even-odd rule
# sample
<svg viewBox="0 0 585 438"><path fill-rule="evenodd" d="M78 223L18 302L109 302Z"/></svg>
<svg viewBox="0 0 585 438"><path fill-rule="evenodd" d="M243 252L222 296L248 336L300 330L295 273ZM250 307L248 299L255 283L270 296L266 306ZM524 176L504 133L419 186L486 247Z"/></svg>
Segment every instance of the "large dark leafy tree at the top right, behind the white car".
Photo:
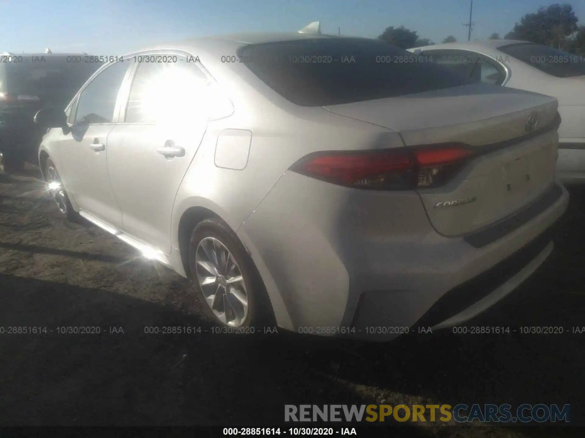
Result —
<svg viewBox="0 0 585 438"><path fill-rule="evenodd" d="M543 6L538 12L523 16L504 38L563 48L568 37L577 30L577 21L573 6L569 4Z"/></svg>

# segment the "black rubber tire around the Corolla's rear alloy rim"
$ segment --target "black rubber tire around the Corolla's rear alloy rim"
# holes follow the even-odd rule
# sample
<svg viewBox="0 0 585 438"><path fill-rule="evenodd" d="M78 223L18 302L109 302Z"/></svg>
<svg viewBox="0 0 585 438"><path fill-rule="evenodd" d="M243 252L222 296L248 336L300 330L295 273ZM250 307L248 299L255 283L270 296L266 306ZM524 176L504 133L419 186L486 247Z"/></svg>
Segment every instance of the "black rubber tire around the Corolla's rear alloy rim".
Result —
<svg viewBox="0 0 585 438"><path fill-rule="evenodd" d="M205 238L213 238L221 242L223 246L231 253L235 260L236 268L239 269L246 288L247 295L247 315L240 325L229 325L223 322L212 310L211 306L205 299L204 291L199 285L198 274L201 274L201 267L199 272L197 270L197 263L195 261L197 249L199 244ZM209 240L208 240L209 241ZM201 251L201 250L200 250ZM226 264L228 266L228 264ZM232 229L219 218L209 218L201 221L191 232L191 241L189 244L189 269L190 279L194 284L195 290L203 302L205 312L216 323L227 327L236 328L254 328L254 332L260 332L264 326L276 326L274 321L274 313L270 305L268 294L264 283L260 278L256 266L252 258L246 252L246 249L240 242L240 239L232 231ZM233 271L232 271L233 272ZM228 275L226 274L226 278ZM219 285L219 280L218 283ZM212 288L215 286L212 286ZM209 293L209 290L208 290ZM226 292L220 292L226 295ZM233 295L232 295L233 297ZM236 303L238 304L238 303ZM221 306L220 306L221 307ZM220 308L221 310L221 308ZM228 312L225 312L228 315ZM232 315L235 315L232 313ZM226 319L228 319L226 317ZM251 332L251 331L248 331Z"/></svg>

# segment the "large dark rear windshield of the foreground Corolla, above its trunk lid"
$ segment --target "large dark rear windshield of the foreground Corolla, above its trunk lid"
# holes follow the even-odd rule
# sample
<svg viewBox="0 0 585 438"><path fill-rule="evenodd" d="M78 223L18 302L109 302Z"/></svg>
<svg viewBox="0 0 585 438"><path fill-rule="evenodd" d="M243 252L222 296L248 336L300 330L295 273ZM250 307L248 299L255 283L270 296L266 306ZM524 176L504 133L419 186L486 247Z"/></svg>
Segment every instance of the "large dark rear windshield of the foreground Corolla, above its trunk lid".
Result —
<svg viewBox="0 0 585 438"><path fill-rule="evenodd" d="M252 44L240 61L301 106L325 106L471 84L440 65L383 41L327 38Z"/></svg>

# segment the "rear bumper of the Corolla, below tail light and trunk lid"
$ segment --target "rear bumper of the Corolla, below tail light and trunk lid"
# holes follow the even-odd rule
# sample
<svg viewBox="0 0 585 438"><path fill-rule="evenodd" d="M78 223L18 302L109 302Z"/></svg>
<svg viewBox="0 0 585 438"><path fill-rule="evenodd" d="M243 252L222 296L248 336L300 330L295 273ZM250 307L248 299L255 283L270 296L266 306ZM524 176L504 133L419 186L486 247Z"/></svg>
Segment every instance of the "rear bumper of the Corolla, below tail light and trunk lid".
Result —
<svg viewBox="0 0 585 438"><path fill-rule="evenodd" d="M414 192L363 192L287 172L238 235L278 325L324 335L353 327L356 338L390 340L419 322L441 324L504 284L507 293L518 286L567 208L559 187L544 211L476 248L434 231Z"/></svg>

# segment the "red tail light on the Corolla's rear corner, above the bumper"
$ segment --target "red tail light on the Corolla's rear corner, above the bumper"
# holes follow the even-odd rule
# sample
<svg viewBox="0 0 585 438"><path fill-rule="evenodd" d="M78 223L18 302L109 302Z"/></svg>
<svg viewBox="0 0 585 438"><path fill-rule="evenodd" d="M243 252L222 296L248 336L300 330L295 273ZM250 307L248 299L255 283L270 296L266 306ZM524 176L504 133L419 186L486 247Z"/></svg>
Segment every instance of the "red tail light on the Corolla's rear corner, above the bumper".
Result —
<svg viewBox="0 0 585 438"><path fill-rule="evenodd" d="M318 152L302 158L291 170L359 189L417 189L442 185L469 161L472 154L463 144L365 152Z"/></svg>

